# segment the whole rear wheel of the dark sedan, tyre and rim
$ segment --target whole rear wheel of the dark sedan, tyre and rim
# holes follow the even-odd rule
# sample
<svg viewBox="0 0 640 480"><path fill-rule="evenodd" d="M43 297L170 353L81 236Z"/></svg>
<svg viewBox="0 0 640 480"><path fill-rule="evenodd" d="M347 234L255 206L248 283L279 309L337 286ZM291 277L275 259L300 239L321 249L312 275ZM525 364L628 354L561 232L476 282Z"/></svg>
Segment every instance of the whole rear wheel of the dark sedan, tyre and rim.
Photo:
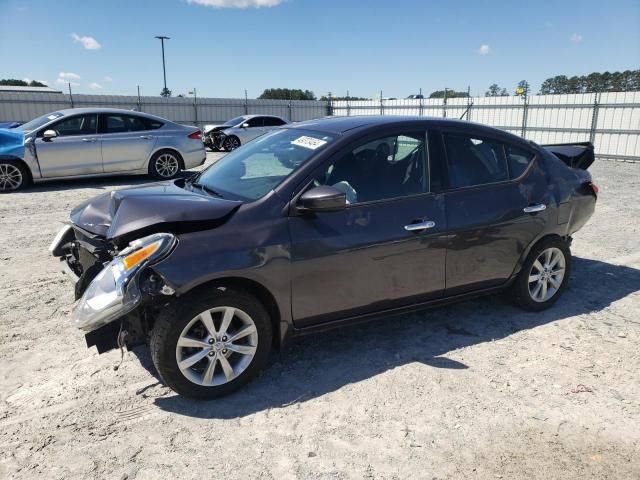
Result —
<svg viewBox="0 0 640 480"><path fill-rule="evenodd" d="M553 305L567 288L571 251L559 237L536 245L516 278L512 291L517 305L540 311Z"/></svg>

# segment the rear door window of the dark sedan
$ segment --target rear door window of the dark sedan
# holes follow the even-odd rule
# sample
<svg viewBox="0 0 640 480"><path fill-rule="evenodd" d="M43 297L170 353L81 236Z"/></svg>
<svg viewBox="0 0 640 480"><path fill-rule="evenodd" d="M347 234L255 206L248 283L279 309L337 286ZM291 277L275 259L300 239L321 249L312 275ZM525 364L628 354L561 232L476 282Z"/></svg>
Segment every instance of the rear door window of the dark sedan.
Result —
<svg viewBox="0 0 640 480"><path fill-rule="evenodd" d="M445 134L451 188L509 179L502 143L468 135Z"/></svg>

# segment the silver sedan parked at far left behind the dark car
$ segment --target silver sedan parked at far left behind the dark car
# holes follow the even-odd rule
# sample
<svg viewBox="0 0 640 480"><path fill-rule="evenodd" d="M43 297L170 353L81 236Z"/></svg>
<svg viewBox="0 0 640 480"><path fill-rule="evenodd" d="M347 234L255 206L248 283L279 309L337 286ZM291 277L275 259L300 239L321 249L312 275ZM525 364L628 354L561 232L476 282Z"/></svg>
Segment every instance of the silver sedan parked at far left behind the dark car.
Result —
<svg viewBox="0 0 640 480"><path fill-rule="evenodd" d="M168 180L205 160L197 127L129 110L59 110L0 130L0 192L31 182L108 174Z"/></svg>

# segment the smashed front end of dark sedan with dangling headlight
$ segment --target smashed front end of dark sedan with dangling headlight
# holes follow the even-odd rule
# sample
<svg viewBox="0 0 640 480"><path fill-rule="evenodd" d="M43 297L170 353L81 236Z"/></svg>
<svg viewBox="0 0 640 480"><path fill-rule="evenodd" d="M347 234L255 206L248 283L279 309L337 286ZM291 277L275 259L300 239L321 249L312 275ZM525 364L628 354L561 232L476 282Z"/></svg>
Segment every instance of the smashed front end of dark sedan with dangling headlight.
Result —
<svg viewBox="0 0 640 480"><path fill-rule="evenodd" d="M147 267L169 255L177 241L171 233L155 233L118 250L78 227L60 230L49 250L75 284L78 301L71 321L85 332L87 346L96 346L99 353L122 346L123 332L128 347L144 342L145 299L174 293Z"/></svg>

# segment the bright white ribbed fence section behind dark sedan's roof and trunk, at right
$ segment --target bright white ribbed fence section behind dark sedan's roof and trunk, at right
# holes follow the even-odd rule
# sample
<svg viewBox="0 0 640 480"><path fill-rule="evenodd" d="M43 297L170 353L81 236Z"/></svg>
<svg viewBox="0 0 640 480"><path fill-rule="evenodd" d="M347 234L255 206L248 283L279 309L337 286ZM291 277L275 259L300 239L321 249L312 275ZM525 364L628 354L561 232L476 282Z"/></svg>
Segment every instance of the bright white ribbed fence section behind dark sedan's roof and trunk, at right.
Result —
<svg viewBox="0 0 640 480"><path fill-rule="evenodd" d="M333 115L418 115L492 125L536 143L593 142L599 158L640 161L640 92L335 101Z"/></svg>

